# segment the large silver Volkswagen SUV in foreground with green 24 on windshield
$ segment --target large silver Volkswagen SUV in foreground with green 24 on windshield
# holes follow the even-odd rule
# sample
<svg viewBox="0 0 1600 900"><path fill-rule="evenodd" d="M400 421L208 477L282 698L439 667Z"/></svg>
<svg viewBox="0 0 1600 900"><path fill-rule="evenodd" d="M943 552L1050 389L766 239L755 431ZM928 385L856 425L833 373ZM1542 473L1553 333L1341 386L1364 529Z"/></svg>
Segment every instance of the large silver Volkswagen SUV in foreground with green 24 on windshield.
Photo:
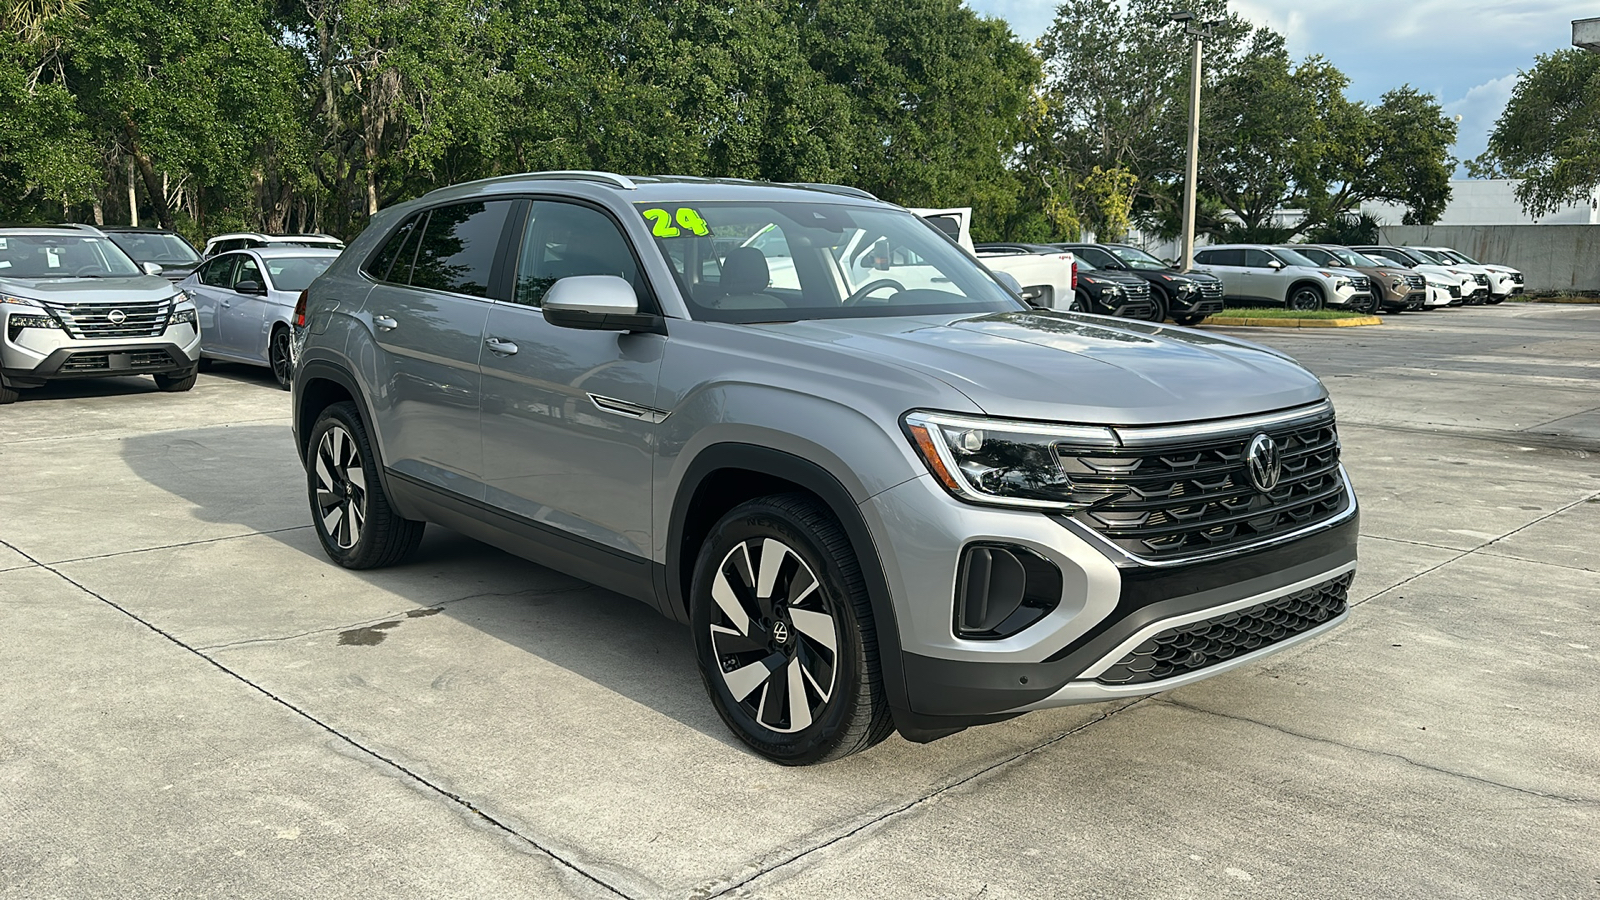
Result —
<svg viewBox="0 0 1600 900"><path fill-rule="evenodd" d="M778 762L1154 693L1347 615L1315 376L1030 309L861 191L446 187L378 213L296 320L334 562L402 562L435 522L637 597Z"/></svg>

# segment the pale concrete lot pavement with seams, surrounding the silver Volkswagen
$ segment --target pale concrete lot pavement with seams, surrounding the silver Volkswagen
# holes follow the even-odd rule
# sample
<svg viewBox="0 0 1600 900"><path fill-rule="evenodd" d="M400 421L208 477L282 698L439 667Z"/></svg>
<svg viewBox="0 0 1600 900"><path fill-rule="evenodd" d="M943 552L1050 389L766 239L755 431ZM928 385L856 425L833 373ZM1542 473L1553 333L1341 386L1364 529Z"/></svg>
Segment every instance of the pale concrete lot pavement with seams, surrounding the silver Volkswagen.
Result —
<svg viewBox="0 0 1600 900"><path fill-rule="evenodd" d="M811 769L744 753L630 601L440 528L328 564L264 373L26 394L0 894L1600 894L1600 309L1246 335L1339 407L1349 626Z"/></svg>

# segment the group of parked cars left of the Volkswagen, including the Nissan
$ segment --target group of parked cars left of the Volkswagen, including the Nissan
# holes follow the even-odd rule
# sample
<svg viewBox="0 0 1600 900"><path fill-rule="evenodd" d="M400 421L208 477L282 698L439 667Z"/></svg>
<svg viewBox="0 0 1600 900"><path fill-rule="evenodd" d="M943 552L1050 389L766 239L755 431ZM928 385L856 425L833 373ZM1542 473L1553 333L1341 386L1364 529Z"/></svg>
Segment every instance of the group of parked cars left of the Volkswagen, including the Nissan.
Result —
<svg viewBox="0 0 1600 900"><path fill-rule="evenodd" d="M325 234L224 234L200 253L163 229L0 227L0 404L106 375L189 391L211 360L270 367L286 389L294 303L342 248Z"/></svg>

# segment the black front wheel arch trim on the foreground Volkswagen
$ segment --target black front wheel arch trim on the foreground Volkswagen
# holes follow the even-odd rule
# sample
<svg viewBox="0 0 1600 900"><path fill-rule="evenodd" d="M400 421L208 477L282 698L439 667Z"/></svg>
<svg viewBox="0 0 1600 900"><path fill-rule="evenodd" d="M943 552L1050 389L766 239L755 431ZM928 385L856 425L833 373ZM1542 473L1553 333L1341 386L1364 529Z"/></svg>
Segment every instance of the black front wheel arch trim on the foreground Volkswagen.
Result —
<svg viewBox="0 0 1600 900"><path fill-rule="evenodd" d="M850 490L822 466L770 447L754 444L714 444L701 450L678 482L667 525L667 557L662 567L662 609L688 623L690 580L699 544L730 509L770 493L803 492L816 496L845 528L872 605L874 631L883 689L896 725L902 724L909 700L901 660L899 623L883 562L867 520ZM901 727L901 733L907 733Z"/></svg>

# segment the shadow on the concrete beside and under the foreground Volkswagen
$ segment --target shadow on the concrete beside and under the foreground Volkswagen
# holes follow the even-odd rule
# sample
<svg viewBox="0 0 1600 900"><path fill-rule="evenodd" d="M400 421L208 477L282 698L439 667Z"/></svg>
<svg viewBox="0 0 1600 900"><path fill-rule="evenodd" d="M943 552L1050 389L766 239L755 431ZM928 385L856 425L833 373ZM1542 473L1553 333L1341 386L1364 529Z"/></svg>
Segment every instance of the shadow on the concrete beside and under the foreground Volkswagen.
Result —
<svg viewBox="0 0 1600 900"><path fill-rule="evenodd" d="M451 617L742 749L706 698L688 629L638 601L440 525L429 525L416 556L403 565L366 572L334 567L309 527L306 476L285 426L141 434L125 439L122 453L138 477L189 501L198 519L235 530L245 527L256 540L270 538L293 549L293 554L272 551L270 559L278 567L304 567L302 572L227 567L216 572L216 578L235 580L245 591L277 589L275 602L280 604L312 604L317 609L306 615L331 620L334 626L328 641L381 644L392 629L405 628L408 618L440 610L437 615ZM350 585L350 578L362 586ZM306 594L304 601L288 599L296 591ZM352 597L362 594L362 610L352 609L349 618L330 613L341 602L354 607ZM405 610L405 604L414 609ZM395 615L374 623L370 613L378 607ZM219 607L218 615L226 609ZM282 633L282 623L267 620L253 637Z"/></svg>

